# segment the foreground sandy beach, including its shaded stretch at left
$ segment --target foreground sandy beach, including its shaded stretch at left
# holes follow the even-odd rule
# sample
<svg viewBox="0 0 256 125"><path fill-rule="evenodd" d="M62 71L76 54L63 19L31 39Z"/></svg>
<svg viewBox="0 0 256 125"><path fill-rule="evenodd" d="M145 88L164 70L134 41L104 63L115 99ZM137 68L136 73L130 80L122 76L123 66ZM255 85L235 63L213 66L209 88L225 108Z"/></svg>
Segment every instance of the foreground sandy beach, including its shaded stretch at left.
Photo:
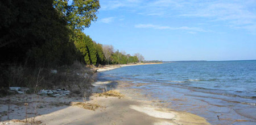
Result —
<svg viewBox="0 0 256 125"><path fill-rule="evenodd" d="M108 70L111 69L113 67ZM133 90L125 89L127 85L123 81L94 82L94 94L86 97L86 103L99 106L93 110L72 105L85 100L71 95L10 95L1 98L1 124L25 124L26 115L31 124L209 124L204 118L191 113L163 109L162 102L146 101L139 92L135 94ZM103 89L118 91L123 96L96 94ZM27 106L24 105L26 103ZM11 120L7 120L8 117Z"/></svg>

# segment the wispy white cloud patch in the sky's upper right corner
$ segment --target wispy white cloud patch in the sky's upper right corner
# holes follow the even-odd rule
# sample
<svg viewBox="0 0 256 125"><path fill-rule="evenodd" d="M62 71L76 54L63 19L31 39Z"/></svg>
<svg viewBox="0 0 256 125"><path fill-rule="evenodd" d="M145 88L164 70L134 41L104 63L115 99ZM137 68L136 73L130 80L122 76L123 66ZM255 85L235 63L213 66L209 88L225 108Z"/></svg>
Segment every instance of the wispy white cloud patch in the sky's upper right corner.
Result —
<svg viewBox="0 0 256 125"><path fill-rule="evenodd" d="M187 11L180 16L195 16L202 18L213 18L214 21L228 20L235 21L236 24L247 24L254 22L256 14L246 9L246 6L237 3L214 3L198 6L194 11Z"/></svg>

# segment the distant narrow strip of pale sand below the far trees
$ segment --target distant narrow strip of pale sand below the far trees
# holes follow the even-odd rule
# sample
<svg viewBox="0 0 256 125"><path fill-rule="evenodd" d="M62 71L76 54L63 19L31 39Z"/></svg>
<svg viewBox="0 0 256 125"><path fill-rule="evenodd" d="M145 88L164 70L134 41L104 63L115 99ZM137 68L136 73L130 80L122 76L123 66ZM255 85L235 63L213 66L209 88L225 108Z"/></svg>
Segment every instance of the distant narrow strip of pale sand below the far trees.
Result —
<svg viewBox="0 0 256 125"><path fill-rule="evenodd" d="M125 66L135 66L135 65L152 65L152 64L163 64L163 62L148 62L148 63L138 63L138 64L119 64L119 65L106 65L102 68L93 68L93 70L96 70L97 72L105 72L108 70L113 70Z"/></svg>

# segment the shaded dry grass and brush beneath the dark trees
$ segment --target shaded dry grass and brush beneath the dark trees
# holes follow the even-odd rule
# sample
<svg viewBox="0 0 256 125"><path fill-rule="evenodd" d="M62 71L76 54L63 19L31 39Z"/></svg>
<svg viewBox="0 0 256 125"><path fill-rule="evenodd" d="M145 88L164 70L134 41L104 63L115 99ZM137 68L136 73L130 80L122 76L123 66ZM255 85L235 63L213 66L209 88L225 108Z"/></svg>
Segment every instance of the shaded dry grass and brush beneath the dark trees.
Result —
<svg viewBox="0 0 256 125"><path fill-rule="evenodd" d="M92 82L96 80L97 74L86 68L80 62L74 62L71 66L60 66L54 68L57 73L52 73L51 68L30 68L26 66L13 65L8 69L0 71L0 88L16 86L28 87L27 93L34 93L41 89L79 89L89 90ZM2 82L4 84L2 84ZM1 95L7 95L9 91L0 90Z"/></svg>

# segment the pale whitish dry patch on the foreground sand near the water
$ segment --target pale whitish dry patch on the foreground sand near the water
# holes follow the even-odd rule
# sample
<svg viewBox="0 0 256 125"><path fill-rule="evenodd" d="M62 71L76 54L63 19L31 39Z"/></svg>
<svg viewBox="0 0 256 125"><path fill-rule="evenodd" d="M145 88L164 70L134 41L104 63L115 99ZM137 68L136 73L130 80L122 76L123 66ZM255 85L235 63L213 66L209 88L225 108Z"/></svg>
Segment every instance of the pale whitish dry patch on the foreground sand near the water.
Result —
<svg viewBox="0 0 256 125"><path fill-rule="evenodd" d="M158 111L154 107L147 107L147 106L142 107L142 106L131 105L130 108L136 111L139 111L141 113L146 113L147 115L153 116L155 118L174 119L176 117L174 113Z"/></svg>

